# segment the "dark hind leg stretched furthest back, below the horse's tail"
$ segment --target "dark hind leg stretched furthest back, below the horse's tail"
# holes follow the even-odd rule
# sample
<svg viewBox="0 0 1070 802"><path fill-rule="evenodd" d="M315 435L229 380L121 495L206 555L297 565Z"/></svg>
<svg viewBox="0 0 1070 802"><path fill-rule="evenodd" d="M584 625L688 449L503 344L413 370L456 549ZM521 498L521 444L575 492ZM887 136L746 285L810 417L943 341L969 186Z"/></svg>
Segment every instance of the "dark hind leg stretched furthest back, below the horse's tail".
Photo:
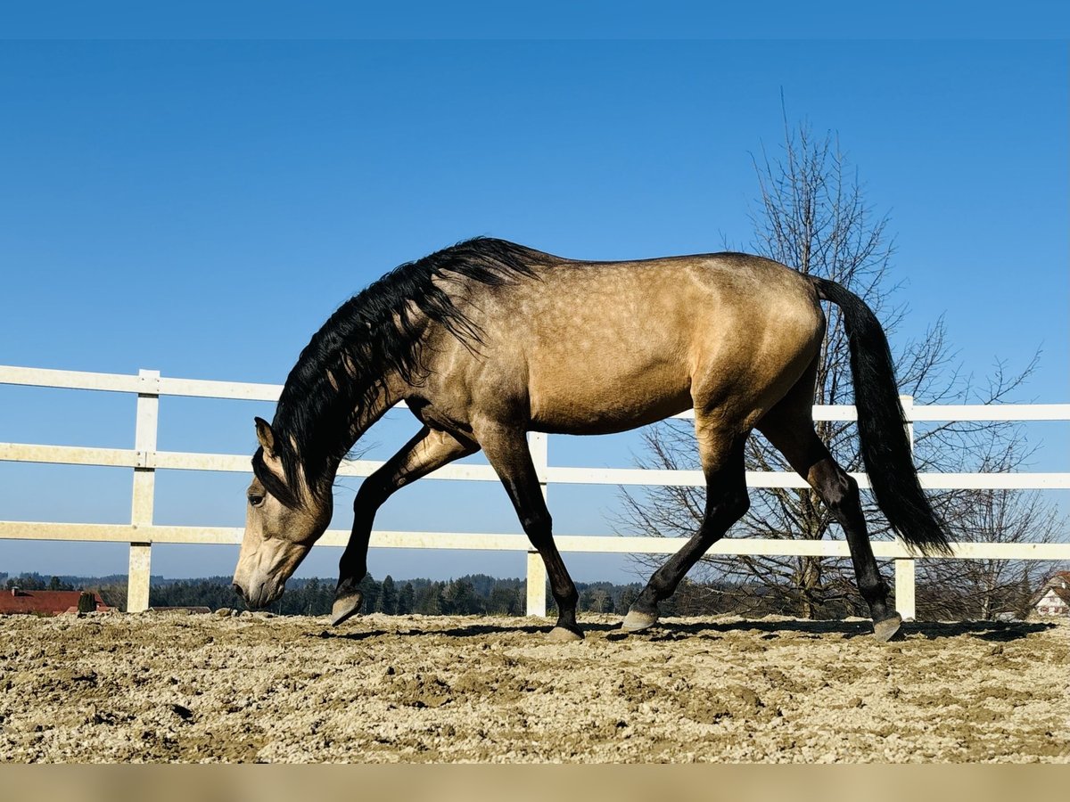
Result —
<svg viewBox="0 0 1070 802"><path fill-rule="evenodd" d="M800 382L799 385L806 385ZM793 388L794 390L794 388ZM812 389L792 392L758 425L759 430L788 458L791 466L813 488L843 527L851 549L858 590L873 616L873 631L888 641L899 630L902 618L888 605L888 586L873 556L856 482L832 459L813 430L810 401Z"/></svg>

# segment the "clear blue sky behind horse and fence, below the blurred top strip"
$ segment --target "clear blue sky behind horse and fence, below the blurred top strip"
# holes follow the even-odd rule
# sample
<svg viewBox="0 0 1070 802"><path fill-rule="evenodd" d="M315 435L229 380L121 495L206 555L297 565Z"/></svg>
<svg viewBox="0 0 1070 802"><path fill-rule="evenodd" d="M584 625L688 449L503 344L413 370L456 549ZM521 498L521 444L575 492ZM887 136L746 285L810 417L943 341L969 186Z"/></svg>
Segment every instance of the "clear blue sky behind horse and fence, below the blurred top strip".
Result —
<svg viewBox="0 0 1070 802"><path fill-rule="evenodd" d="M345 298L468 236L577 258L746 248L751 154L777 152L783 93L890 216L900 336L945 315L978 375L1041 348L1020 398L1065 402L1067 67L1058 41L3 42L0 364L280 383ZM133 444L124 397L0 386L0 441ZM160 448L250 452L271 412L165 399ZM1040 434L1065 445L1059 426ZM413 429L392 415L372 456ZM633 444L554 438L551 460L628 465ZM1038 460L1067 469L1064 448ZM500 489L425 484L379 525L519 531ZM162 473L156 520L240 525L243 485ZM0 463L2 519L121 522L128 504L127 472ZM617 504L552 488L551 508L559 531L606 534ZM229 573L234 551L157 547L153 570ZM0 571L20 570L124 571L125 549L0 541ZM469 571L522 558L371 564Z"/></svg>

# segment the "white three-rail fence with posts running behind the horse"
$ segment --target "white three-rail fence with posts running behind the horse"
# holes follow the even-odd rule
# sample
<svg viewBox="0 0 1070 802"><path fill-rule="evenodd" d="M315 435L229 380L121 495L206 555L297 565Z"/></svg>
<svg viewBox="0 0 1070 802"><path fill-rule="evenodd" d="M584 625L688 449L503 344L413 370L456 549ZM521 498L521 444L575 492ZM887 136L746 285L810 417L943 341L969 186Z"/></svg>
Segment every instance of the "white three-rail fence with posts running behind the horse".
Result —
<svg viewBox="0 0 1070 802"><path fill-rule="evenodd" d="M269 384L170 379L158 371L142 370L137 375L83 373L0 366L0 384L104 390L137 394L137 418L133 449L45 446L0 443L0 460L73 465L128 467L134 472L129 524L72 524L29 521L0 521L0 539L80 540L129 543L127 610L143 611L149 605L149 572L153 543L231 543L242 540L241 527L157 526L153 524L155 472L221 471L250 473L249 454L190 453L159 451L156 431L160 396L276 401L281 387ZM903 407L910 421L922 420L1070 420L1070 404L918 405L904 396ZM10 414L10 413L9 413ZM691 417L685 413L679 417ZM815 406L815 420L854 420L853 406ZM548 436L531 435L532 456L544 487L551 483L691 485L704 487L699 471L655 471L640 468L556 467L549 464ZM382 463L355 460L342 464L340 476L368 476ZM855 475L868 487L865 475ZM498 481L489 465L454 464L440 468L427 479ZM921 485L931 489L1070 489L1070 473L1013 474L921 474ZM805 488L793 473L748 472L752 488ZM320 543L343 546L348 530L328 529ZM562 552L615 552L671 554L679 549L676 538L631 538L559 536ZM373 547L470 549L522 551L528 553L528 614L546 615L546 574L538 554L522 535L486 535L442 531L381 531L371 536ZM1070 559L1070 543L954 543L954 558L970 559ZM877 557L892 558L896 567L896 606L905 618L914 617L915 560L899 541L873 541ZM850 556L842 540L722 539L710 549L715 554L782 556Z"/></svg>

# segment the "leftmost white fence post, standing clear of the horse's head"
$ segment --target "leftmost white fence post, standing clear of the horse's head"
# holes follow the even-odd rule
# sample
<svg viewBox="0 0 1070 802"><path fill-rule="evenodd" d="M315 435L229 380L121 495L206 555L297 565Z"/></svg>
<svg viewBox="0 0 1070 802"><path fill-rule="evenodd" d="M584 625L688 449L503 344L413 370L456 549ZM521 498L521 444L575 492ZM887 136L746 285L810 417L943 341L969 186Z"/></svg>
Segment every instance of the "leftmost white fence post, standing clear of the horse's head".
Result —
<svg viewBox="0 0 1070 802"><path fill-rule="evenodd" d="M131 500L131 523L152 526L152 509L156 494L156 425L159 420L159 371L139 370L141 386L137 394L137 425L134 449L134 493ZM131 543L129 575L126 581L126 612L141 613L149 608L149 576L152 567L152 544Z"/></svg>

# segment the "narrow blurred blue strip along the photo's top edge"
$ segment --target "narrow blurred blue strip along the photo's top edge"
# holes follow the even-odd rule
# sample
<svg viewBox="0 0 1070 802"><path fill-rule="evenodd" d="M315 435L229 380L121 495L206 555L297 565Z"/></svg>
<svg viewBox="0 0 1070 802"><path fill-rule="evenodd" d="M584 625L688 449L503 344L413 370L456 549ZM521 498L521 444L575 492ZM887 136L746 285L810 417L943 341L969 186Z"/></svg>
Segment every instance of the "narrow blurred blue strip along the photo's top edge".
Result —
<svg viewBox="0 0 1070 802"><path fill-rule="evenodd" d="M1065 40L1061 0L39 0L0 7L12 38Z"/></svg>

